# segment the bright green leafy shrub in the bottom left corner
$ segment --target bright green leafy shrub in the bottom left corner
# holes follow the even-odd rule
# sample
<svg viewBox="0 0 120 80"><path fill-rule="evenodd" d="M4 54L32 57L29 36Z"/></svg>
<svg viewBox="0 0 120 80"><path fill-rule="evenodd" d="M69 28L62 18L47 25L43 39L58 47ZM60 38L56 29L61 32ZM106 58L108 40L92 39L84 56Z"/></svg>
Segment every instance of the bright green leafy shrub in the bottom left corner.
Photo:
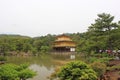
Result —
<svg viewBox="0 0 120 80"><path fill-rule="evenodd" d="M0 66L0 80L26 80L36 75L28 65L4 64Z"/></svg>

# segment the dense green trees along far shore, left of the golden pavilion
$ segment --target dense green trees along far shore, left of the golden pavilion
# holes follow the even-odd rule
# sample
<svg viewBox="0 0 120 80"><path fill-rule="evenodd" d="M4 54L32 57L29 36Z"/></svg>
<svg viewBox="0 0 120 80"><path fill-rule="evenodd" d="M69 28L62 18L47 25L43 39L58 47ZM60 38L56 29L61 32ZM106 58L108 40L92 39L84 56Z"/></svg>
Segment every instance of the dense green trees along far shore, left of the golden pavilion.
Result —
<svg viewBox="0 0 120 80"><path fill-rule="evenodd" d="M53 35L41 36L30 38L26 36L19 35L0 35L0 54L10 55L12 51L32 52L34 55L37 53L46 53L52 48L52 43L54 41Z"/></svg>

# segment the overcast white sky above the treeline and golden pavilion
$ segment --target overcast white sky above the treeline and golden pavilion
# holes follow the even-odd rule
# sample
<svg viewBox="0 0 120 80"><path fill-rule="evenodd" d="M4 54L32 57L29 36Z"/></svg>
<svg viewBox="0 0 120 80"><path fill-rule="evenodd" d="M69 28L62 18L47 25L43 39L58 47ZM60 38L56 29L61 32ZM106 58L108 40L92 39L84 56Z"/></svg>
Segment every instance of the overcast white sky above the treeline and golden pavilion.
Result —
<svg viewBox="0 0 120 80"><path fill-rule="evenodd" d="M0 34L85 32L99 13L120 20L120 0L0 0Z"/></svg>

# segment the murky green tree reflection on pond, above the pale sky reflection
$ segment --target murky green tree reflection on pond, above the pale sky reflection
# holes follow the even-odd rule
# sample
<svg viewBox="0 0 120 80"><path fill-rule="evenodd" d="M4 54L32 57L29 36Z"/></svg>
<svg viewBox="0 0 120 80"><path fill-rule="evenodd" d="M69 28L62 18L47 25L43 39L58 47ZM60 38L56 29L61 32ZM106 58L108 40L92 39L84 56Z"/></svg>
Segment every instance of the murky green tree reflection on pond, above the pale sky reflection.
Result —
<svg viewBox="0 0 120 80"><path fill-rule="evenodd" d="M22 63L29 63L29 64L37 64L40 67L44 66L48 70L51 68L59 65L55 63L56 60L68 60L70 59L69 55L48 55L43 54L40 56L25 56L25 57L17 57L17 56L10 56L8 57L8 63L15 63L15 64L22 64Z"/></svg>

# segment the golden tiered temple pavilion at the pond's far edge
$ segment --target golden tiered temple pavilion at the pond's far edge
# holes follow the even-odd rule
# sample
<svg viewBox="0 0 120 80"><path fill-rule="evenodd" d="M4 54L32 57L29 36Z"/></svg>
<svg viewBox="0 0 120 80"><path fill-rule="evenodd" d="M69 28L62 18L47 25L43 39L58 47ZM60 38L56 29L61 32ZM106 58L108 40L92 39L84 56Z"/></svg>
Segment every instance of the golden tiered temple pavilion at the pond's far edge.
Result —
<svg viewBox="0 0 120 80"><path fill-rule="evenodd" d="M67 35L59 35L53 45L56 52L75 52L75 42Z"/></svg>

